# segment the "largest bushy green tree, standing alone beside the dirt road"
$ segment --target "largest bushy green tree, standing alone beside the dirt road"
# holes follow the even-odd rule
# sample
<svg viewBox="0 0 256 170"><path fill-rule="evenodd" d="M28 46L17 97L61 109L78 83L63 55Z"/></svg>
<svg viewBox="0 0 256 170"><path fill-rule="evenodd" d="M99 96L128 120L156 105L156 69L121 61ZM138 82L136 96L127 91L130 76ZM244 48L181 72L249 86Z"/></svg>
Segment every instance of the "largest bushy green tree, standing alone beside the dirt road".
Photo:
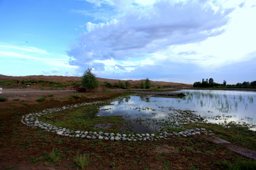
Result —
<svg viewBox="0 0 256 170"><path fill-rule="evenodd" d="M99 81L96 79L96 75L91 72L91 68L88 67L87 70L84 71L81 85L86 91L92 91L99 87Z"/></svg>

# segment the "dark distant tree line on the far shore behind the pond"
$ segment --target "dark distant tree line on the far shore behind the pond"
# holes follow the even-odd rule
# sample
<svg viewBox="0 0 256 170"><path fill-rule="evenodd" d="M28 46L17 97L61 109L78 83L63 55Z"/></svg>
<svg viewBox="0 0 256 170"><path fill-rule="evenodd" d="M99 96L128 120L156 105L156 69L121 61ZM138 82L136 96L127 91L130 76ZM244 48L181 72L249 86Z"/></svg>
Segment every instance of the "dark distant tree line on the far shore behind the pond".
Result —
<svg viewBox="0 0 256 170"><path fill-rule="evenodd" d="M215 83L213 81L212 78L210 78L209 80L206 79L202 79L202 82L195 82L193 84L193 87L202 87L202 88L211 88L211 87L227 87L227 88L255 88L256 86L256 81L253 81L253 82L243 82L243 83L237 83L237 84L226 84L227 82L224 80L222 84L219 84L219 83Z"/></svg>

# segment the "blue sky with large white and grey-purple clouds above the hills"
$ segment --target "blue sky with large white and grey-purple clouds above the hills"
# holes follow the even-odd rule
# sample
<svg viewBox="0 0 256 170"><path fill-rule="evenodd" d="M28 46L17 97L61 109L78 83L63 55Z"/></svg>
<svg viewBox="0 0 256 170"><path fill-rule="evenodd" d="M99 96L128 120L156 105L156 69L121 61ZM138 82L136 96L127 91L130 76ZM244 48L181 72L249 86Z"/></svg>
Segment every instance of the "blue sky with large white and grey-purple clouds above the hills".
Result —
<svg viewBox="0 0 256 170"><path fill-rule="evenodd" d="M256 80L255 0L0 0L0 74Z"/></svg>

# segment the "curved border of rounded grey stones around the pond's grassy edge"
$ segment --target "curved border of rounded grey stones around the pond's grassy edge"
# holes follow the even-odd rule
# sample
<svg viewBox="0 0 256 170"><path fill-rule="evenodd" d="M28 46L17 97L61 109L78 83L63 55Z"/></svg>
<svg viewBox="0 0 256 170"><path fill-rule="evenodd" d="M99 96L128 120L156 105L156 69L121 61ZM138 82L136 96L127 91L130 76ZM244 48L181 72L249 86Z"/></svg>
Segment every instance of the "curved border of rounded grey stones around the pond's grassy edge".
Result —
<svg viewBox="0 0 256 170"><path fill-rule="evenodd" d="M106 100L106 102L114 102L116 100L119 99L123 99L124 97L119 97L119 98L115 98L113 100ZM171 139L171 137L189 137L189 136L193 136L193 135L199 135L199 134L207 134L207 135L213 135L210 132L210 134L207 133L207 131L204 128L198 129L196 128L195 130L191 129L191 130L185 130L184 132L181 131L179 133L173 132L173 133L167 133L166 131L163 133L160 133L159 135L152 133L152 134L114 134L114 133L103 133L102 131L100 131L99 133L97 132L91 132L91 131L74 131L74 130L70 130L70 129L66 129L66 128L62 128L62 127L56 127L53 126L51 124L47 124L44 122L39 122L38 118L42 115L45 114L50 114L50 113L54 113L54 112L58 112L58 111L62 111L62 110L66 110L66 109L72 109L75 107L82 107L82 106L86 106L86 105L92 105L92 104L100 104L100 103L106 103L106 102L90 102L90 103L81 103L81 104L71 104L70 106L63 106L61 108L50 108L50 109L46 109L43 110L42 113L33 113L33 114L28 114L25 116L22 116L22 119L20 120L23 124L26 124L29 127L38 127L41 129L45 129L45 131L47 132L52 132L52 133L56 133L57 135L63 136L63 137L76 137L76 138L87 138L87 139L104 139L104 140L110 140L110 141L119 141L119 140L123 140L123 141L157 141L159 139ZM170 110L176 110L176 109L170 109ZM176 111L182 111L182 110L176 110ZM186 114L186 111L182 111L181 113ZM197 117L199 119L199 117ZM182 119L183 120L183 119ZM186 121L189 121L188 118L186 118ZM193 122L192 122L193 121ZM191 120L192 123L195 123L194 120ZM196 121L197 122L197 121ZM182 124L182 123L179 123ZM178 124L178 126L180 126ZM184 123L185 124L185 123ZM188 123L187 123L188 124Z"/></svg>

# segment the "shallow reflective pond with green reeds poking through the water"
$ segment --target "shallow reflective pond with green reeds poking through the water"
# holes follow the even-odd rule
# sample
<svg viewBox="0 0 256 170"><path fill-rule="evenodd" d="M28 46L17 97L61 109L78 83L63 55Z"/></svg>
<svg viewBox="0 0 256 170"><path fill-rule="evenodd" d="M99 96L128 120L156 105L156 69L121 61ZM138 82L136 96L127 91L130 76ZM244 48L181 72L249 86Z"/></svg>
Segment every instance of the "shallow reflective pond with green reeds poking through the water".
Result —
<svg viewBox="0 0 256 170"><path fill-rule="evenodd" d="M127 131L153 133L203 121L235 122L256 130L256 92L224 90L181 90L186 96L129 96L99 108L97 115L123 116Z"/></svg>

